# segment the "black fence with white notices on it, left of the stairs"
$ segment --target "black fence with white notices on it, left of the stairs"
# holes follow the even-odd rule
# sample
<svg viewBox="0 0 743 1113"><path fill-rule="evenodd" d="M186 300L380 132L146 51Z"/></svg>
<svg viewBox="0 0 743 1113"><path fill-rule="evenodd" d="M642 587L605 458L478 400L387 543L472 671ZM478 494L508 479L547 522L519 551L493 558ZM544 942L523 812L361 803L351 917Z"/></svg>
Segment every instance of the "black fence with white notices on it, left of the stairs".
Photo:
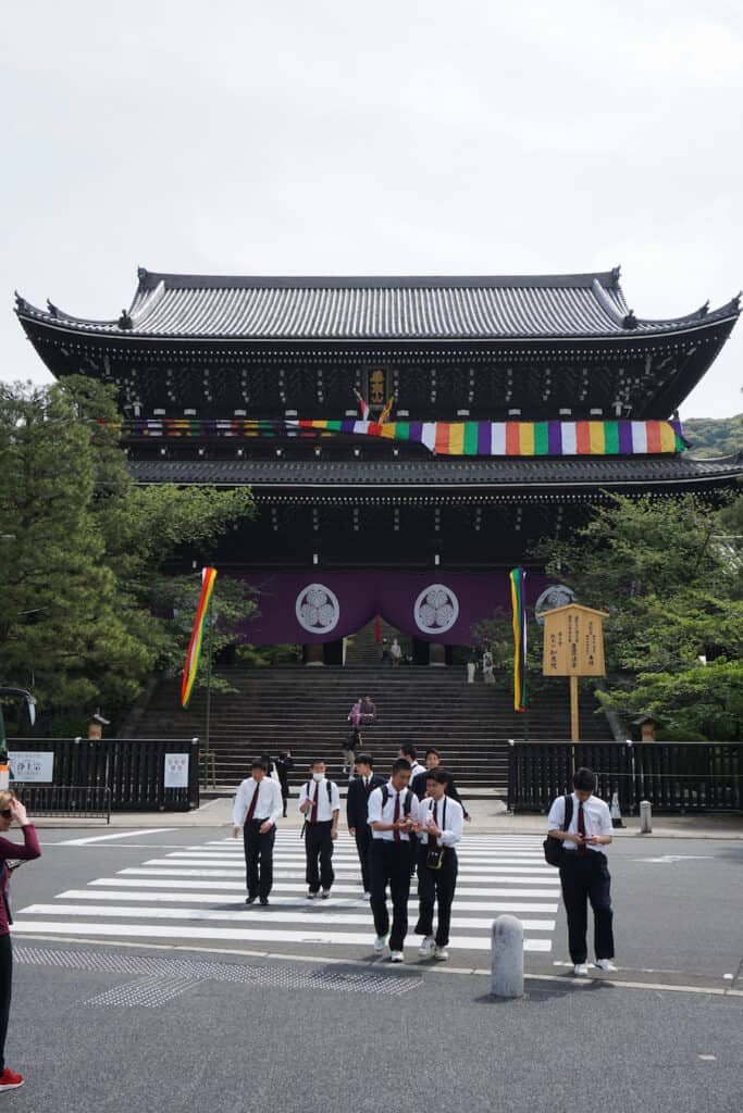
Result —
<svg viewBox="0 0 743 1113"><path fill-rule="evenodd" d="M91 794L87 799L94 802L107 794L113 811L188 811L198 807L197 738L16 738L8 741L8 750L55 755L51 785L25 784L19 779L12 787L29 800L42 789L50 794L50 800L52 789L68 789L70 810L66 815L76 814L75 806L86 790ZM185 787L165 787L166 755L188 757ZM92 795L94 790L99 795ZM61 802L65 794L58 792L56 799ZM43 797L40 802L43 804Z"/></svg>

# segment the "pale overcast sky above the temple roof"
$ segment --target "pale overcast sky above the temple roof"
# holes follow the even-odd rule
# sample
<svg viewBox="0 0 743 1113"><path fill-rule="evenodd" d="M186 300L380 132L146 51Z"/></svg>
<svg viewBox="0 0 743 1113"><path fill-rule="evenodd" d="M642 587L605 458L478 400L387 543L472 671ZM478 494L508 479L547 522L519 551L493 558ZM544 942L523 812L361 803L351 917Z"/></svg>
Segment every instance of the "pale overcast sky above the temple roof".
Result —
<svg viewBox="0 0 743 1113"><path fill-rule="evenodd" d="M3 0L0 57L3 380L49 377L14 288L115 317L138 265L743 285L743 0Z"/></svg>

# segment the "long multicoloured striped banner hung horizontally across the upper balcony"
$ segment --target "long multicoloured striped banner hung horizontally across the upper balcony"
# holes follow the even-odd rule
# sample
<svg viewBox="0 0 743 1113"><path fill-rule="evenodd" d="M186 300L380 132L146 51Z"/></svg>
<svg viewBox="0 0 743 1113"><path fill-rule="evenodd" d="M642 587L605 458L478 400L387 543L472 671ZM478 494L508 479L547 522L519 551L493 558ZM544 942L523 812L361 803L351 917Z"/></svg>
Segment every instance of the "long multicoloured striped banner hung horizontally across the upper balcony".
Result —
<svg viewBox="0 0 743 1113"><path fill-rule="evenodd" d="M164 417L114 423L123 437L326 437L422 444L440 456L626 456L688 447L677 421L385 422Z"/></svg>

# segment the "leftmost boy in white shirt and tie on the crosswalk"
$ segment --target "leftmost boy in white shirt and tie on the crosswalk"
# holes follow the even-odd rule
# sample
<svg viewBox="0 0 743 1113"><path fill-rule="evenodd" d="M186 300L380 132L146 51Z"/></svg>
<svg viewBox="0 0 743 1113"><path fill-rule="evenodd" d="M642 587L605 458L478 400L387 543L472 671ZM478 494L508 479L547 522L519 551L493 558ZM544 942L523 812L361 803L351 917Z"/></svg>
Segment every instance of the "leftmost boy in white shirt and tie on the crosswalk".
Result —
<svg viewBox="0 0 743 1113"><path fill-rule="evenodd" d="M235 795L232 812L233 836L243 830L245 847L245 904L256 898L265 907L273 888L273 847L276 839L276 820L283 811L281 788L266 776L265 762L256 758L251 776L242 782Z"/></svg>

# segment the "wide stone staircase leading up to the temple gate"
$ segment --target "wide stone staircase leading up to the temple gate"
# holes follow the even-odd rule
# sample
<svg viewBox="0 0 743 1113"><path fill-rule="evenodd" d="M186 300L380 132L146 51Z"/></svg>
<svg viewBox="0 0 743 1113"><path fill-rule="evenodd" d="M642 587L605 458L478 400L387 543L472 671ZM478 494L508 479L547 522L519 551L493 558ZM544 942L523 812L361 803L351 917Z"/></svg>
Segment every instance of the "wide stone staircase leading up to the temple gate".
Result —
<svg viewBox="0 0 743 1113"><path fill-rule="evenodd" d="M306 777L313 757L324 758L331 776L341 779L341 743L348 738L348 713L360 696L370 695L378 722L362 730L363 748L380 770L389 768L401 742L420 752L434 746L457 777L463 794L482 790L505 796L508 784L508 739L569 738L567 681L545 682L528 720L512 710L505 686L465 682L459 669L379 666L345 668L221 668L235 695L212 695L209 786L225 791L250 772L256 755L290 749L292 784ZM141 738L189 738L204 741L206 693L197 689L188 711L178 702L179 682L163 681L139 723ZM581 696L583 735L610 740L606 718L594 715L592 697Z"/></svg>

